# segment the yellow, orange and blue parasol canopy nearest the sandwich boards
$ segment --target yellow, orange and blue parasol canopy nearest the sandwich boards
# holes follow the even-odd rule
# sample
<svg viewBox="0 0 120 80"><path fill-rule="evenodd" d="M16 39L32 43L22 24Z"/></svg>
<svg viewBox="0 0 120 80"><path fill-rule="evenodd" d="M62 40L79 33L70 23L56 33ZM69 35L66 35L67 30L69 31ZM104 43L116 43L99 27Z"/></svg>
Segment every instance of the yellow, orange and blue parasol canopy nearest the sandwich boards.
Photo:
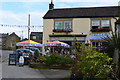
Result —
<svg viewBox="0 0 120 80"><path fill-rule="evenodd" d="M42 47L42 44L32 41L32 40L26 40L22 42L16 43L16 46L34 46L34 47Z"/></svg>

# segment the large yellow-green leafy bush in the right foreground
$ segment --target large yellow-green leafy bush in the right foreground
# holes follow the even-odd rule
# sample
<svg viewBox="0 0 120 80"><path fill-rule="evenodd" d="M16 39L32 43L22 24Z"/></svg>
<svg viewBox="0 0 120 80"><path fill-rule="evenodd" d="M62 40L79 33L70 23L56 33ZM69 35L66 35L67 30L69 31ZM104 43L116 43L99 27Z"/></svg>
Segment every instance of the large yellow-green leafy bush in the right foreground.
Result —
<svg viewBox="0 0 120 80"><path fill-rule="evenodd" d="M84 49L84 50L83 50ZM84 77L107 78L110 72L108 63L112 60L105 53L99 53L91 47L82 48L78 55L77 63L73 66L72 72L81 74Z"/></svg>

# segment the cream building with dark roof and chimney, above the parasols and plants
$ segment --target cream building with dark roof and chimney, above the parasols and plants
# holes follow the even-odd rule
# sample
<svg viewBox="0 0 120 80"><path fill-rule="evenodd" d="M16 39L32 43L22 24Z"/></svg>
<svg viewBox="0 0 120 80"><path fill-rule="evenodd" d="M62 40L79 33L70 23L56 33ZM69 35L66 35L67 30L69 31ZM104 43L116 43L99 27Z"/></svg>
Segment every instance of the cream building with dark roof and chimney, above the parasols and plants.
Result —
<svg viewBox="0 0 120 80"><path fill-rule="evenodd" d="M59 40L74 45L77 41L100 47L103 38L115 31L118 6L54 9L51 4L43 17L43 43Z"/></svg>

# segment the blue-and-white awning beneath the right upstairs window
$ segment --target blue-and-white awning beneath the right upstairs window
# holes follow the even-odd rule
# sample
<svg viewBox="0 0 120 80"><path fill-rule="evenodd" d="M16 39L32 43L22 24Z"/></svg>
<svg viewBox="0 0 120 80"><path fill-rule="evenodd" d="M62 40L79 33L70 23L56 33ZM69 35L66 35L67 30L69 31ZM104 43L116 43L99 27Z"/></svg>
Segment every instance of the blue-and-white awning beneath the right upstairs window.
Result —
<svg viewBox="0 0 120 80"><path fill-rule="evenodd" d="M109 38L109 32L102 32L102 33L90 33L90 40L104 40L105 38Z"/></svg>

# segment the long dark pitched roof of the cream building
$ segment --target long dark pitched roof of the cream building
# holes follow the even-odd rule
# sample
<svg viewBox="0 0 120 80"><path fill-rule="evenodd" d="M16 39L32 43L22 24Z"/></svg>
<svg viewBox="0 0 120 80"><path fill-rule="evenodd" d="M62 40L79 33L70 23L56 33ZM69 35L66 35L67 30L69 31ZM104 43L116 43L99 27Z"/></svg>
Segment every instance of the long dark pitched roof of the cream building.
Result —
<svg viewBox="0 0 120 80"><path fill-rule="evenodd" d="M118 16L118 8L118 6L107 6L53 9L48 10L43 19L116 17Z"/></svg>

